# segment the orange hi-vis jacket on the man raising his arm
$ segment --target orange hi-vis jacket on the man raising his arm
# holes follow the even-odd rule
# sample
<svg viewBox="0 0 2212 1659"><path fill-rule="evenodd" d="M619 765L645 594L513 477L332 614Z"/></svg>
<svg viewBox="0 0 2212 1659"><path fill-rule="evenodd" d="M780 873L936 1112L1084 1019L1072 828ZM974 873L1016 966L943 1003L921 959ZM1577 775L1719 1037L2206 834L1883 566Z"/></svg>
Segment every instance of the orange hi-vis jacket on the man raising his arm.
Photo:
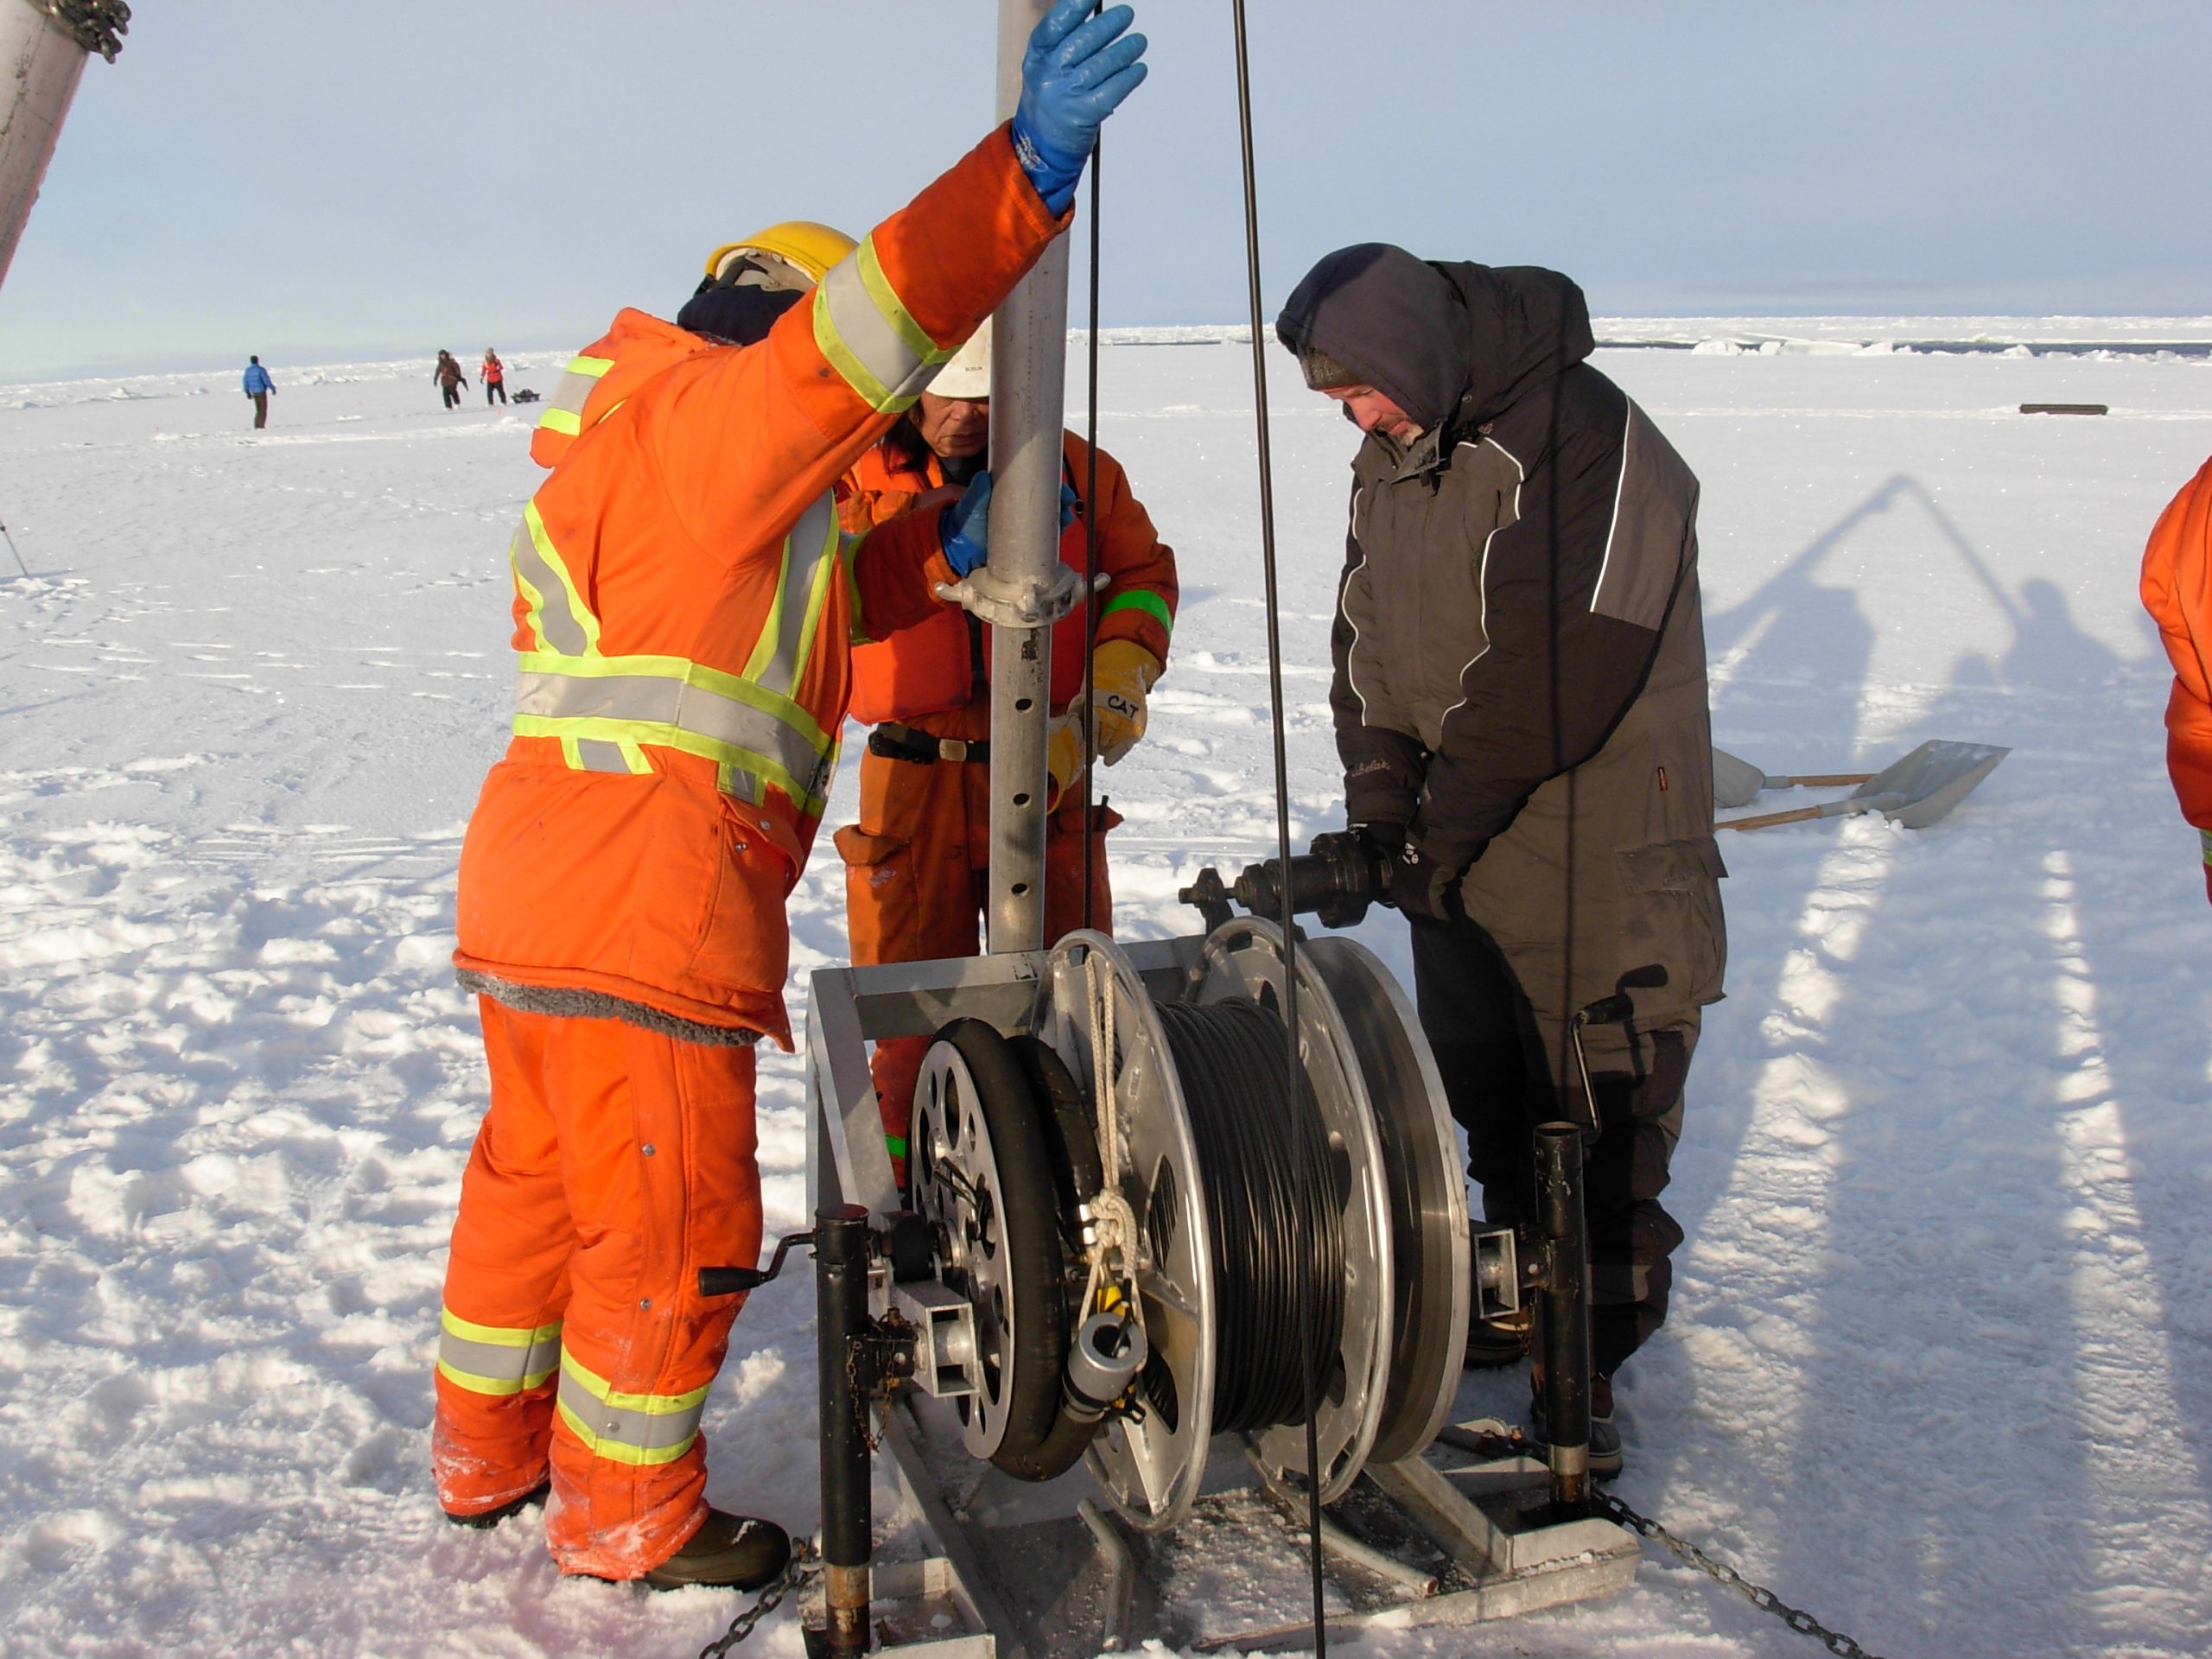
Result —
<svg viewBox="0 0 2212 1659"><path fill-rule="evenodd" d="M783 900L849 637L918 622L951 580L927 513L854 544L832 487L1064 223L1000 126L763 343L622 312L571 363L511 551L515 734L460 854L469 989L790 1046Z"/></svg>

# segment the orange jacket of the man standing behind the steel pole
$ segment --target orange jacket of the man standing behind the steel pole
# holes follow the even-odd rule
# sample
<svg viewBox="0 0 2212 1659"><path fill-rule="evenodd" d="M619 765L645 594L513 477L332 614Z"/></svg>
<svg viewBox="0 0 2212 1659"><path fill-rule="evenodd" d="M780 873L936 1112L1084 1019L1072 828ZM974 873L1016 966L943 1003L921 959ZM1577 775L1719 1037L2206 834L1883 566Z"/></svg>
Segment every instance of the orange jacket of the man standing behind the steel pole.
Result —
<svg viewBox="0 0 2212 1659"><path fill-rule="evenodd" d="M1091 447L1073 431L1062 438L1066 478L1075 493L1088 487ZM1097 502L1084 502L1082 513L1097 520L1097 560L1108 577L1099 593L1099 633L1106 639L1135 639L1159 661L1168 661L1168 635L1175 630L1175 553L1152 531L1152 520L1128 489L1121 462L1097 451ZM929 491L945 487L945 467L927 456L925 471L905 469L902 456L889 445L869 449L845 476L838 513L847 531L887 524L907 513ZM931 518L925 513L925 518ZM1060 533L1060 560L1073 571L1084 568L1084 518ZM1084 650L1086 606L1075 606L1053 628L1053 690L1057 714L1084 688L1091 655ZM929 611L922 622L898 633L872 630L874 644L852 653L852 717L909 721L964 708L975 692L969 664L967 613L951 606ZM989 628L984 628L982 661L991 661Z"/></svg>

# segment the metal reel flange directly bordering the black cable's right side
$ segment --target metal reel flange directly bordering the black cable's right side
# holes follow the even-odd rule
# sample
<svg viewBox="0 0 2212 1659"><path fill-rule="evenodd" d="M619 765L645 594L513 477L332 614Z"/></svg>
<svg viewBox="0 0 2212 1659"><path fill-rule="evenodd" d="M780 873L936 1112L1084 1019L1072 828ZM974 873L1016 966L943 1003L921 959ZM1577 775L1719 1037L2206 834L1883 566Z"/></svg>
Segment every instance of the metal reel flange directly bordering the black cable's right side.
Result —
<svg viewBox="0 0 2212 1659"><path fill-rule="evenodd" d="M1217 927L1197 967L1199 1004L1254 1000L1283 1015L1283 933L1274 922L1239 916ZM1385 1318L1396 1301L1389 1225L1389 1177L1352 1031L1327 980L1298 951L1298 1062L1329 1137L1327 1194L1345 1241L1345 1323L1334 1354L1321 1356L1314 1440L1321 1502L1349 1491L1367 1464L1389 1389L1391 1334ZM1305 1425L1261 1429L1245 1438L1252 1467L1283 1498L1303 1500L1307 1484Z"/></svg>

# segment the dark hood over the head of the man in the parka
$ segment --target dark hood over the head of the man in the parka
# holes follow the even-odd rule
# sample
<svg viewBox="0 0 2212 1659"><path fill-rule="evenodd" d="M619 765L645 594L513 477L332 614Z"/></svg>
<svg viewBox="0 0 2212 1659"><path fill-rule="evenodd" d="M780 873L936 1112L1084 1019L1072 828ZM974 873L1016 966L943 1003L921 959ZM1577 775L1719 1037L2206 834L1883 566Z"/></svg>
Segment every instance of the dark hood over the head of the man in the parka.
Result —
<svg viewBox="0 0 2212 1659"><path fill-rule="evenodd" d="M1385 241L1305 272L1274 332L1292 352L1327 352L1429 431L1453 409L1493 420L1597 347L1590 307L1559 272L1433 263Z"/></svg>

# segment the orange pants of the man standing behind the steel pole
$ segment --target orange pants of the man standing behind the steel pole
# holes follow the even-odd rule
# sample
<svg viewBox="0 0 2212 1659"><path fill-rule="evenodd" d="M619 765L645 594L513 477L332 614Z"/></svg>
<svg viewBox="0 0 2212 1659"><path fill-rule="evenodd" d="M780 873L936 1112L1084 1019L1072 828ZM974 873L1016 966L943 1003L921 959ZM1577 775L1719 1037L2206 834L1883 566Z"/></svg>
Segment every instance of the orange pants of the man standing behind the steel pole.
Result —
<svg viewBox="0 0 2212 1659"><path fill-rule="evenodd" d="M907 721L931 737L991 734L991 701ZM1044 940L1084 925L1084 801L1068 792L1044 821ZM1091 810L1091 927L1113 931L1106 832L1121 814ZM991 900L991 768L980 761L894 761L860 754L860 821L836 832L845 860L845 927L852 960L933 962L982 949L982 909ZM885 1037L869 1057L876 1108L891 1159L905 1168L914 1119L914 1079L929 1037Z"/></svg>

